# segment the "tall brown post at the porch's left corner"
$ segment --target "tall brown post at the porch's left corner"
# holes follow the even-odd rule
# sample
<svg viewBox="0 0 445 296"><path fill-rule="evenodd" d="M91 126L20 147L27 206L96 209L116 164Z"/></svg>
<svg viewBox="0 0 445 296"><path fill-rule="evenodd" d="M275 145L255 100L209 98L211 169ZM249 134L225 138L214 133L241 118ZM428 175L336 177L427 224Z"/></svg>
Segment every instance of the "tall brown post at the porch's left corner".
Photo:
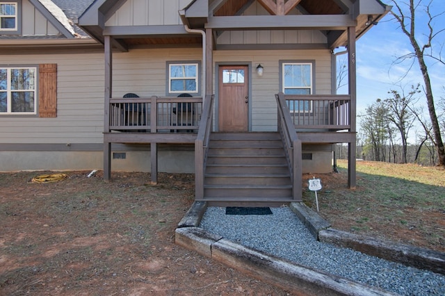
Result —
<svg viewBox="0 0 445 296"><path fill-rule="evenodd" d="M104 133L110 131L110 99L113 89L113 54L111 37L104 36L105 56L105 95L104 95ZM111 177L111 143L104 140L104 180Z"/></svg>

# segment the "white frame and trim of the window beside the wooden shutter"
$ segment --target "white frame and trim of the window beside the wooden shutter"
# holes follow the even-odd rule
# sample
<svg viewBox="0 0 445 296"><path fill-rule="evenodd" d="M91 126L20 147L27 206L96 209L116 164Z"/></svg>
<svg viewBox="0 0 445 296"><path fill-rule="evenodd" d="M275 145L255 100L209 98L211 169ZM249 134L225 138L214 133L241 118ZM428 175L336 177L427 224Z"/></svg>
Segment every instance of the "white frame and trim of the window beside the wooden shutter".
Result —
<svg viewBox="0 0 445 296"><path fill-rule="evenodd" d="M0 65L0 69L7 69L8 72L6 74L7 76L7 86L6 90L1 90L1 92L6 92L6 102L7 102L7 110L6 112L1 112L0 115L13 115L13 116L37 116L38 115L38 101L39 101L39 66L38 65L12 65L8 67L3 67ZM11 79L11 70L12 69L34 69L34 88L33 90L26 90L28 92L34 92L34 110L33 112L13 112L11 110L12 106L12 92L11 85L10 85L10 79ZM24 90L19 90L24 91Z"/></svg>

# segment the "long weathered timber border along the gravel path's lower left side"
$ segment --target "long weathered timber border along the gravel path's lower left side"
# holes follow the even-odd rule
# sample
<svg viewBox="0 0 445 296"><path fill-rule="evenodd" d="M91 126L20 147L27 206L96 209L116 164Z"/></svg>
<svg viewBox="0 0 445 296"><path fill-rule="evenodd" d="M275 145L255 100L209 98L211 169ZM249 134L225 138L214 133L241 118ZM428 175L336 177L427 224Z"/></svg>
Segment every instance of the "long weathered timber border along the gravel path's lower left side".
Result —
<svg viewBox="0 0 445 296"><path fill-rule="evenodd" d="M178 228L175 243L296 295L394 295L281 260L197 227Z"/></svg>

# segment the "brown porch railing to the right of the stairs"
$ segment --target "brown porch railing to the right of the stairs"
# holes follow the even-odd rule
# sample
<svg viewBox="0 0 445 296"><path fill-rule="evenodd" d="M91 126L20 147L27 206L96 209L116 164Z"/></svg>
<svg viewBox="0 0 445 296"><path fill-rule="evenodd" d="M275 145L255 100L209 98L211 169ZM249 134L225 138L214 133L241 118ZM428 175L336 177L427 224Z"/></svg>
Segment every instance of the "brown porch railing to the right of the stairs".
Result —
<svg viewBox="0 0 445 296"><path fill-rule="evenodd" d="M296 129L350 129L350 96L284 95Z"/></svg>

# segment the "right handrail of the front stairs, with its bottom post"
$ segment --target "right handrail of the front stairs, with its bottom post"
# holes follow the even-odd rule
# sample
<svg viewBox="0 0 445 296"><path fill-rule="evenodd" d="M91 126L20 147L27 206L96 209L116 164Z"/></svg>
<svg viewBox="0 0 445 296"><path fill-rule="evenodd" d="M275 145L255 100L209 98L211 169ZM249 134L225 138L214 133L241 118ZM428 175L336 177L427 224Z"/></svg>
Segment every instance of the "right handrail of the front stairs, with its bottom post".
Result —
<svg viewBox="0 0 445 296"><path fill-rule="evenodd" d="M278 132L282 138L287 163L292 178L292 195L296 201L302 200L302 148L297 131L291 120L291 111L286 104L284 93L275 94L278 106Z"/></svg>

